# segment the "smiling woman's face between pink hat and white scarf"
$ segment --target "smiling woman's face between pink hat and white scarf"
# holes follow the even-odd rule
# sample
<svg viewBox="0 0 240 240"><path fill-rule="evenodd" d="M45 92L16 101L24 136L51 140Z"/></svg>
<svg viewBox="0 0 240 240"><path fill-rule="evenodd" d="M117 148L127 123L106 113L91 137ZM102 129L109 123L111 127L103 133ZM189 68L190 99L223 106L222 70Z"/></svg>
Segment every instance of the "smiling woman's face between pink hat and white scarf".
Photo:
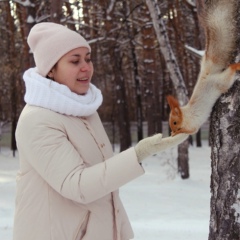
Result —
<svg viewBox="0 0 240 240"><path fill-rule="evenodd" d="M48 73L54 81L80 95L87 93L92 75L91 53L86 47L76 48L65 54Z"/></svg>

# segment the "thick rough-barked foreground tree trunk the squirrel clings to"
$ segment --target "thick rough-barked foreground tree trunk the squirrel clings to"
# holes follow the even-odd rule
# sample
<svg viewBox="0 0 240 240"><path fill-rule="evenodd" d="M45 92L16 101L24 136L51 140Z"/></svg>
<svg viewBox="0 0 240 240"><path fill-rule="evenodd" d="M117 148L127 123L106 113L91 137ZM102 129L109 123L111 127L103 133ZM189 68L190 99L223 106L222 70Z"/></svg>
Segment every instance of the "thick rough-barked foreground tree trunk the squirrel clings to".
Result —
<svg viewBox="0 0 240 240"><path fill-rule="evenodd" d="M211 217L209 240L240 239L240 82L223 95L211 116Z"/></svg>

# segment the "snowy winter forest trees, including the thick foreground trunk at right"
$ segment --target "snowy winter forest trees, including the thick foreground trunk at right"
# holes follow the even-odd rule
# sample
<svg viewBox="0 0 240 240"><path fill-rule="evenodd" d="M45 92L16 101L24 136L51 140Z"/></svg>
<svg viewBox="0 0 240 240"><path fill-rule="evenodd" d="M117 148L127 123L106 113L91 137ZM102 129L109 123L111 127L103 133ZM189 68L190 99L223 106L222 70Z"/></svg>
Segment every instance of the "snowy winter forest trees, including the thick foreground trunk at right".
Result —
<svg viewBox="0 0 240 240"><path fill-rule="evenodd" d="M0 0L0 139L10 124L11 149L17 150L14 132L25 104L22 75L34 66L26 39L34 24L45 21L61 23L89 41L92 81L104 97L99 114L120 151L157 132L168 136L166 96L186 104L200 71L205 37L197 2L211 1ZM212 159L209 240L240 239L239 90L236 81L215 104L207 125ZM201 137L200 129L199 147ZM190 140L178 147L183 179L189 177Z"/></svg>

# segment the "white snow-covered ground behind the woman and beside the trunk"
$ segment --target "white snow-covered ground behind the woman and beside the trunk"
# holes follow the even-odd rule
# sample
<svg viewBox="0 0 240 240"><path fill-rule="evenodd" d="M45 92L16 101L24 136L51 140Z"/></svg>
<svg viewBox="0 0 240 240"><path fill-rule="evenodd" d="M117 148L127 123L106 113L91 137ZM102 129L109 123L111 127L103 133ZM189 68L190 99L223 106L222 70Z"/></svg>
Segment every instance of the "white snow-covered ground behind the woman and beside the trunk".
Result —
<svg viewBox="0 0 240 240"><path fill-rule="evenodd" d="M207 240L210 215L210 148L189 148L190 178L176 173L176 149L144 161L145 175L121 188L135 240ZM0 240L12 239L18 158L0 152Z"/></svg>

